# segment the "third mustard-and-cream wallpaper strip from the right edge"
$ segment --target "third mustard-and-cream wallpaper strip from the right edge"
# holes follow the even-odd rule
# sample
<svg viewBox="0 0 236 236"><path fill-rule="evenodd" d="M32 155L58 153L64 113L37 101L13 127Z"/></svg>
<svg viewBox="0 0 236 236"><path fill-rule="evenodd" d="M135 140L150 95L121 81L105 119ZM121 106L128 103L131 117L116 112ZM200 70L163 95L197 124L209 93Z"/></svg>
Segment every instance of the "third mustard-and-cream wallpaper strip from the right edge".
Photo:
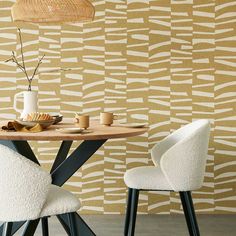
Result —
<svg viewBox="0 0 236 236"><path fill-rule="evenodd" d="M171 1L171 131L192 121L193 1ZM170 194L171 212L181 211L179 194Z"/></svg>

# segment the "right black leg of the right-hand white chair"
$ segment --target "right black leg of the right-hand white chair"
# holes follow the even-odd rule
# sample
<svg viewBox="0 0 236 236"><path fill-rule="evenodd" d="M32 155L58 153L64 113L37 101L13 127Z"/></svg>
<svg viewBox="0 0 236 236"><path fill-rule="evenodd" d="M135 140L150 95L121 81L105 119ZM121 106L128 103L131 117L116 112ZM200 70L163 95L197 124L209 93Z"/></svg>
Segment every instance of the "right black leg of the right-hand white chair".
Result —
<svg viewBox="0 0 236 236"><path fill-rule="evenodd" d="M194 211L191 192L180 192L180 198L183 205L184 215L188 226L190 236L200 236L197 218Z"/></svg>

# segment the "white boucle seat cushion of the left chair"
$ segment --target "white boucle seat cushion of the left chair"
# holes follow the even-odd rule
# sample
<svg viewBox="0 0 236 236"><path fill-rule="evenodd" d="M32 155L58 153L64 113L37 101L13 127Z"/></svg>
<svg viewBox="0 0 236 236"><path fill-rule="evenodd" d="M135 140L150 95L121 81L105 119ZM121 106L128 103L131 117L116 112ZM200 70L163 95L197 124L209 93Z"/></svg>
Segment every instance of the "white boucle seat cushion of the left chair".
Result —
<svg viewBox="0 0 236 236"><path fill-rule="evenodd" d="M80 206L80 201L74 194L61 187L51 185L40 217L75 212Z"/></svg>

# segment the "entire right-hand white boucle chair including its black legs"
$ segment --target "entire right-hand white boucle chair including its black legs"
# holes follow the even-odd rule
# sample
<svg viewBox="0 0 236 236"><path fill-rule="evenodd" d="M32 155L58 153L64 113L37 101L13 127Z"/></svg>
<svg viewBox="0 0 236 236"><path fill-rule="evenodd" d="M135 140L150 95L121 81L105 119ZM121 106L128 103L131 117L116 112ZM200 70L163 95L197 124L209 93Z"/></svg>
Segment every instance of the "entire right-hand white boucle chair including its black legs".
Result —
<svg viewBox="0 0 236 236"><path fill-rule="evenodd" d="M137 167L125 173L128 203L125 236L133 236L139 190L179 192L191 236L199 236L191 191L203 184L210 123L198 120L188 124L157 143L151 150L154 166Z"/></svg>

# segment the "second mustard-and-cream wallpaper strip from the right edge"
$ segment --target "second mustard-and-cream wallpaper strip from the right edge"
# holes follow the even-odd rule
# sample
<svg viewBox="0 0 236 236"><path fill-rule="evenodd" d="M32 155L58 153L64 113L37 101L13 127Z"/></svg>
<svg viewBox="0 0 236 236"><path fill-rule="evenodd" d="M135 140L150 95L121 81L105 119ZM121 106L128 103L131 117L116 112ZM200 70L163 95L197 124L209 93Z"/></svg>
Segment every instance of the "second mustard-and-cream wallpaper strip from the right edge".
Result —
<svg viewBox="0 0 236 236"><path fill-rule="evenodd" d="M193 6L193 118L208 118L212 136L204 186L193 194L198 212L214 211L214 52L215 3L199 1Z"/></svg>

